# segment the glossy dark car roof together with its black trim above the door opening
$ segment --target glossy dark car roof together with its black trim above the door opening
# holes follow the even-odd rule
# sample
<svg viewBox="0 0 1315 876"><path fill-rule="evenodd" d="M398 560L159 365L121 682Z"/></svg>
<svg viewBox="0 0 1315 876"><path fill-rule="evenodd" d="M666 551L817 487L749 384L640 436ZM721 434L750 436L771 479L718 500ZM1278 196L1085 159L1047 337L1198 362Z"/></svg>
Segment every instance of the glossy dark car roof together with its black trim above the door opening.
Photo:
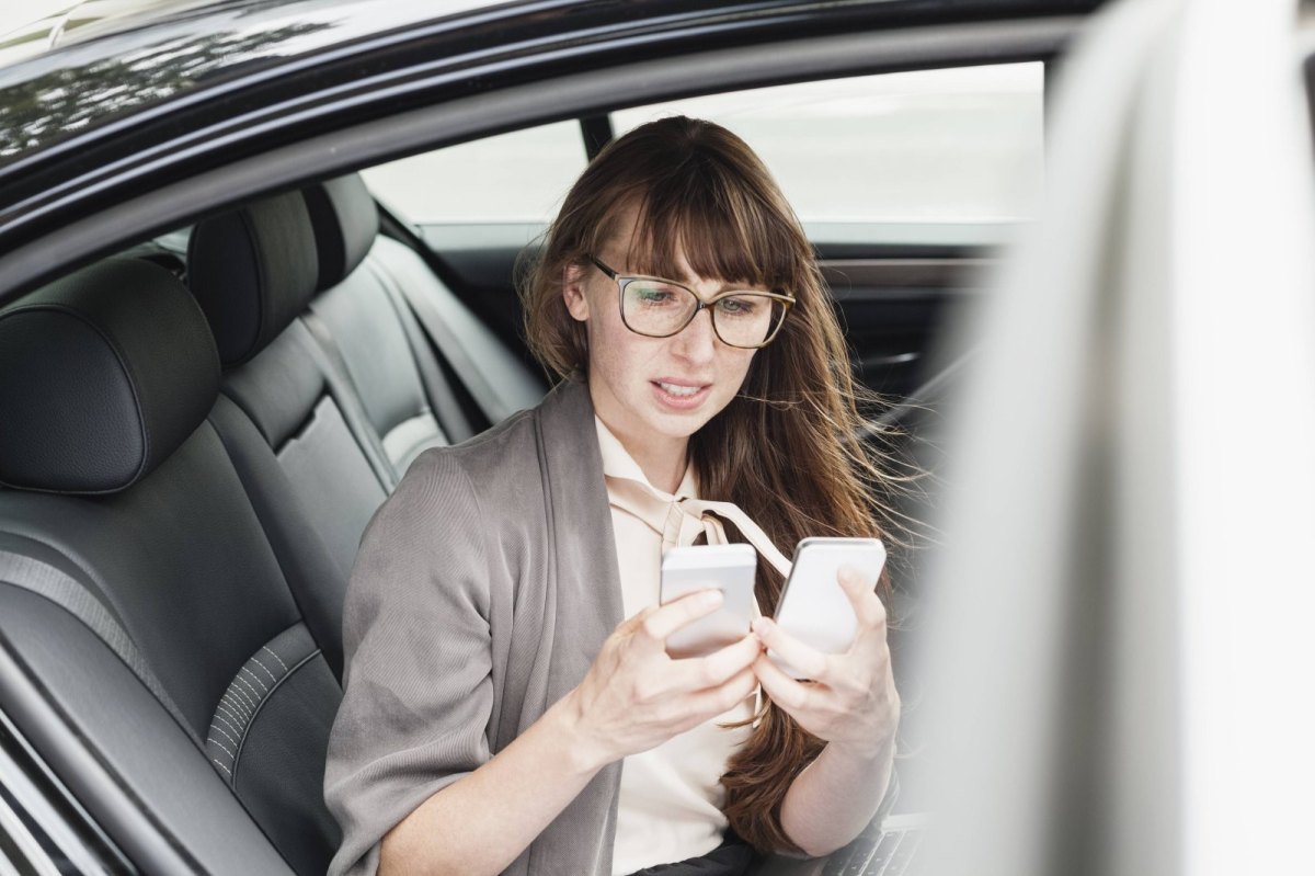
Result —
<svg viewBox="0 0 1315 876"><path fill-rule="evenodd" d="M907 28L1031 21L1063 34L1101 3L164 0L0 66L0 251L142 184L525 83Z"/></svg>

